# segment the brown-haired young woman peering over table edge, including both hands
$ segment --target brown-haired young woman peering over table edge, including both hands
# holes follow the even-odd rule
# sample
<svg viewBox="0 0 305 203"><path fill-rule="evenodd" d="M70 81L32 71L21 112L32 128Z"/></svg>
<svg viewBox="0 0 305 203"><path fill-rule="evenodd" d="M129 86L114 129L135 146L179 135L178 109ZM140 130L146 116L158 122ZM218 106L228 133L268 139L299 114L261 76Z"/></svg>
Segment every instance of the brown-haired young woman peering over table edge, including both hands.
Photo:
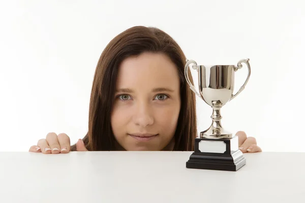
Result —
<svg viewBox="0 0 305 203"><path fill-rule="evenodd" d="M164 31L144 26L125 30L98 61L86 136L70 146L67 134L50 132L29 151L194 151L195 93L186 82L185 64L181 48ZM243 131L236 135L242 152L261 151L255 138Z"/></svg>

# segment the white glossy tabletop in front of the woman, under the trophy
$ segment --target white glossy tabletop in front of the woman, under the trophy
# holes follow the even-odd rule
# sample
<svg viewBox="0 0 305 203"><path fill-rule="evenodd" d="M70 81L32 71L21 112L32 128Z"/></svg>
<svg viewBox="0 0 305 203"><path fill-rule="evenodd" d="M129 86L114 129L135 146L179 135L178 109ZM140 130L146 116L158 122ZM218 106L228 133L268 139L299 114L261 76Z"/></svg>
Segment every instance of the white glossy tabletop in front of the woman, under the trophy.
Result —
<svg viewBox="0 0 305 203"><path fill-rule="evenodd" d="M0 202L305 202L305 153L246 153L237 172L191 153L0 152Z"/></svg>

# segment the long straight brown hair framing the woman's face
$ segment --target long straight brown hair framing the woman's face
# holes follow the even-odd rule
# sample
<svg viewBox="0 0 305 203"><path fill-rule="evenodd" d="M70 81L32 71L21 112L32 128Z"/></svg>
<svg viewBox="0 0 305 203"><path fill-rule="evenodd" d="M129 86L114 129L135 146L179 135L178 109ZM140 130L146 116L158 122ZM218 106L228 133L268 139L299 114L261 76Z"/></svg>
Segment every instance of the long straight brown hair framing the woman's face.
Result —
<svg viewBox="0 0 305 203"><path fill-rule="evenodd" d="M174 151L194 151L197 137L195 93L189 88L184 67L186 56L179 45L155 27L135 26L117 35L106 46L98 61L89 104L88 132L83 138L89 151L115 150L111 111L120 63L143 52L164 53L177 66L180 78L181 109L175 131ZM190 71L190 70L189 70ZM193 82L189 73L190 81ZM76 151L76 145L71 146Z"/></svg>

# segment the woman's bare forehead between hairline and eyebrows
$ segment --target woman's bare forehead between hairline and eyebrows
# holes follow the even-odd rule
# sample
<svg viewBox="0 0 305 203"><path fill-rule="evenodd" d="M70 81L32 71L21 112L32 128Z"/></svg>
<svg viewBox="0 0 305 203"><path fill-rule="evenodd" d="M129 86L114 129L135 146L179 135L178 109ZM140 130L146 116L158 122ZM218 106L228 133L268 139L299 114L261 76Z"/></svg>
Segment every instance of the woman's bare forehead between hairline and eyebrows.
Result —
<svg viewBox="0 0 305 203"><path fill-rule="evenodd" d="M179 87L176 65L162 53L142 53L125 59L119 67L118 88Z"/></svg>

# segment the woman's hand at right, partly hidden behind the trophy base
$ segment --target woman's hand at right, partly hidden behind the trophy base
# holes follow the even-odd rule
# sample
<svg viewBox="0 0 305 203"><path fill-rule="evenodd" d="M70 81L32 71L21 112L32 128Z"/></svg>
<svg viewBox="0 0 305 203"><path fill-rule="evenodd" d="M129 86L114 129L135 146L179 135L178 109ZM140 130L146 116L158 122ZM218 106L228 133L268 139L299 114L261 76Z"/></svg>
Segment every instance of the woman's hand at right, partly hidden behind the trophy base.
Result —
<svg viewBox="0 0 305 203"><path fill-rule="evenodd" d="M261 148L257 146L256 139L253 137L248 137L244 131L238 131L235 134L238 136L238 147L242 153L254 153L261 152Z"/></svg>

